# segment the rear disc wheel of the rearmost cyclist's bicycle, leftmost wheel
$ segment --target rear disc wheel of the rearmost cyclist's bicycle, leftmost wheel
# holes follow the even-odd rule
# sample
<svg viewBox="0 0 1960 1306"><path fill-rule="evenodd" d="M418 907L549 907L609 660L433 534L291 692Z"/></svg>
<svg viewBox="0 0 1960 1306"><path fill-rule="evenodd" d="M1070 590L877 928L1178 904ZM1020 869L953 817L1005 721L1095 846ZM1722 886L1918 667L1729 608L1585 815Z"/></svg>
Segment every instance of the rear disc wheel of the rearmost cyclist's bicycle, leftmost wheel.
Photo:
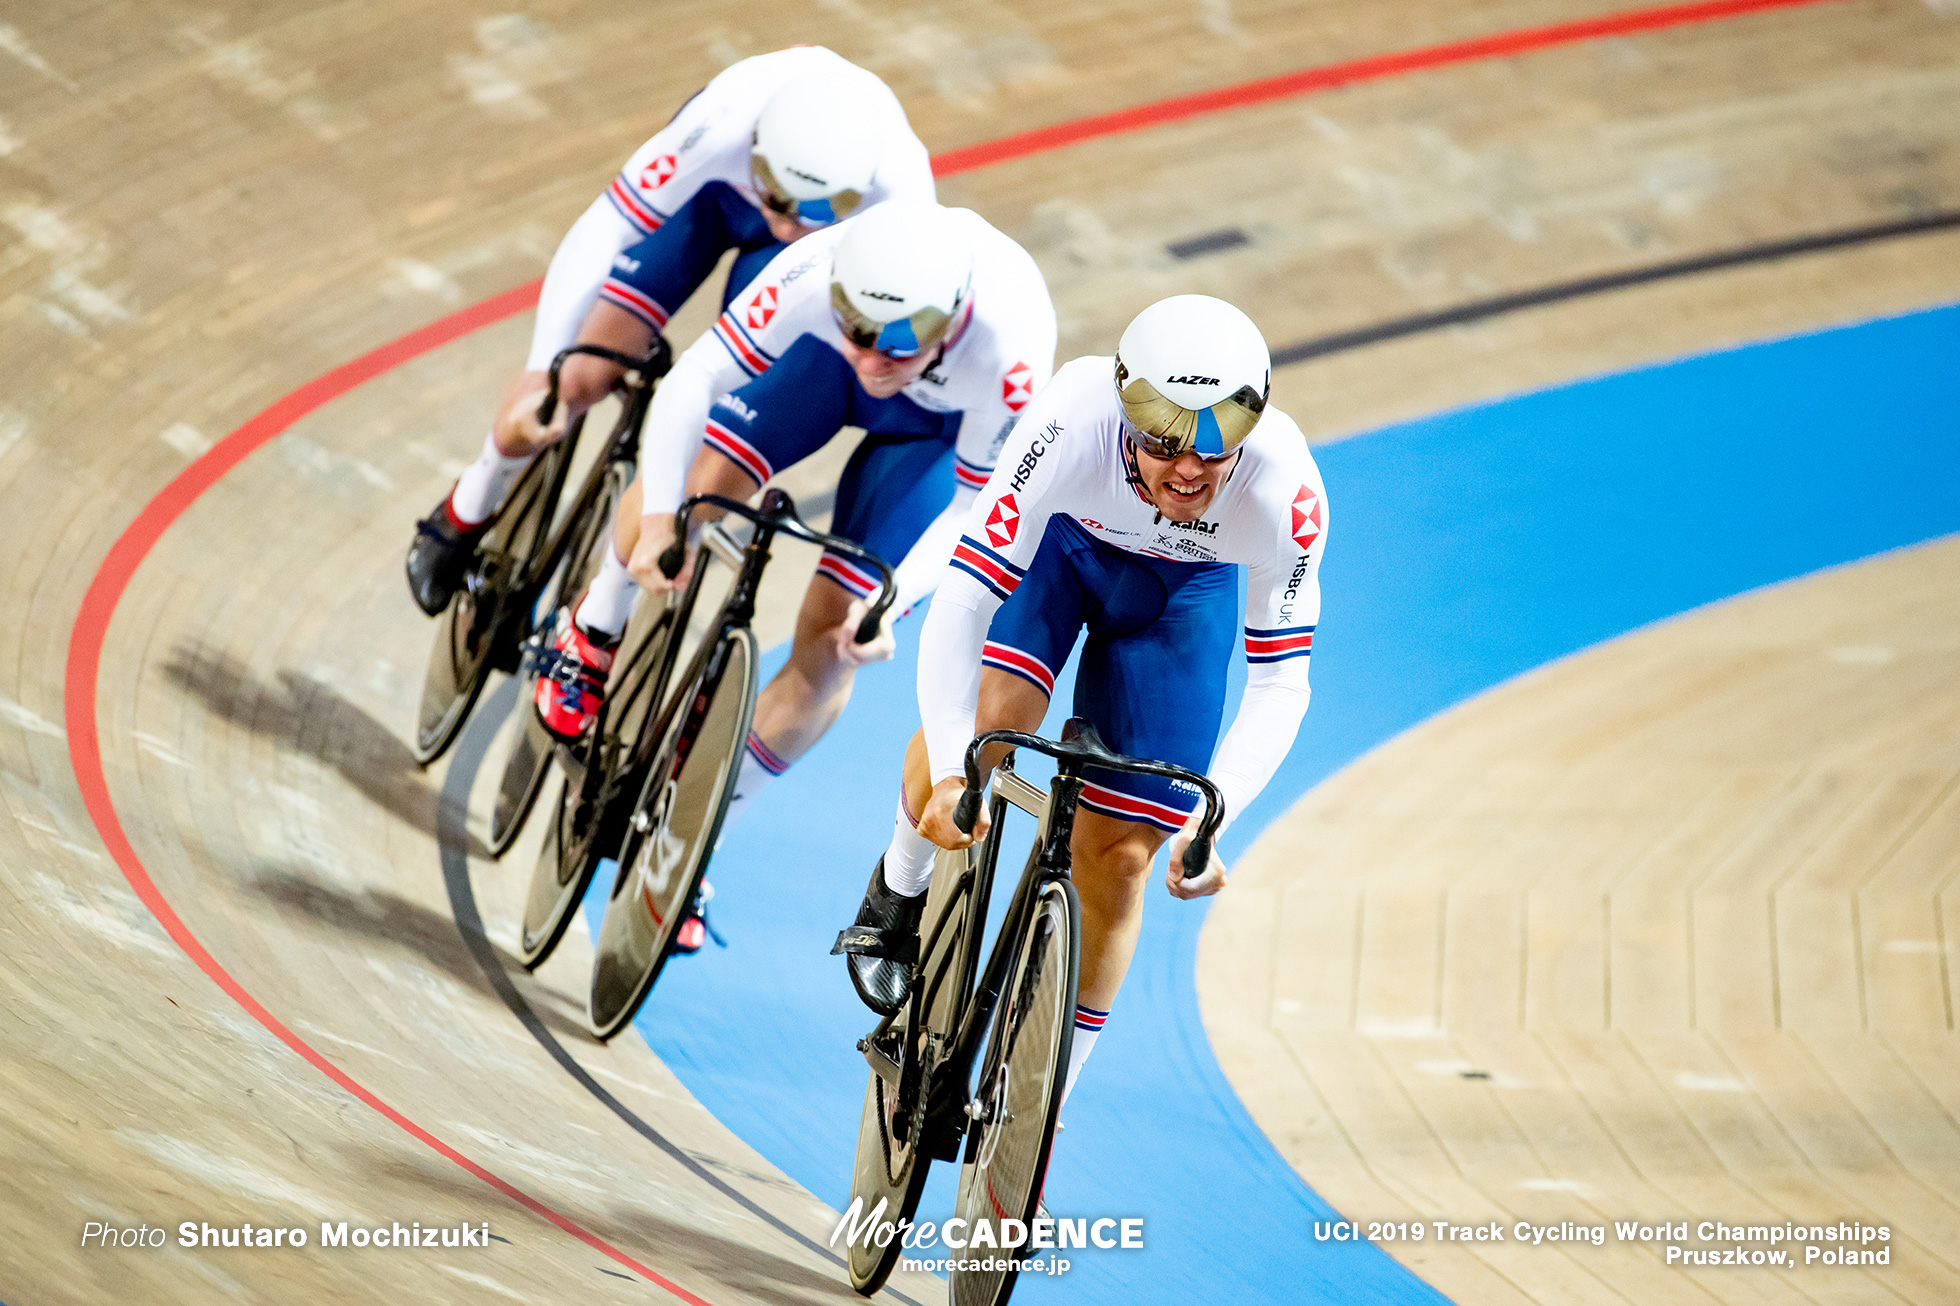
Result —
<svg viewBox="0 0 1960 1306"><path fill-rule="evenodd" d="M541 453L512 486L496 524L476 545L470 575L457 596L435 618L435 645L429 671L421 678L421 708L416 714L416 761L423 767L449 751L463 733L463 722L476 706L490 669L510 659L500 643L523 637L519 592L529 582L535 555L545 547L547 527L564 480L570 439Z"/></svg>

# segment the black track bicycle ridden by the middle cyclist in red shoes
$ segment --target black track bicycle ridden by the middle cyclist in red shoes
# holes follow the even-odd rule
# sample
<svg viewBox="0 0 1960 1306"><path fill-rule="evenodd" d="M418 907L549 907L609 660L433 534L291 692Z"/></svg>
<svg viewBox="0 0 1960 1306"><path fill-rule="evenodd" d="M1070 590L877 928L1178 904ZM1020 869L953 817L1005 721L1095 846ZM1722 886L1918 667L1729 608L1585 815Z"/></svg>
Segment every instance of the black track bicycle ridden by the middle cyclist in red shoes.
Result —
<svg viewBox="0 0 1960 1306"><path fill-rule="evenodd" d="M721 833L755 716L751 622L776 537L843 553L880 575L878 600L855 631L858 643L878 635L898 598L890 567L849 539L811 529L790 496L774 488L759 508L719 494L682 502L674 545L661 555L668 578L680 575L688 520L704 506L747 520L747 543L719 524L702 531L702 557L688 582L664 604L643 602L627 624L600 720L578 743L557 743L553 753L564 780L531 873L519 957L537 969L551 955L592 877L613 861L588 1000L602 1039L633 1020L659 980ZM711 561L733 578L719 606L706 608L702 586Z"/></svg>

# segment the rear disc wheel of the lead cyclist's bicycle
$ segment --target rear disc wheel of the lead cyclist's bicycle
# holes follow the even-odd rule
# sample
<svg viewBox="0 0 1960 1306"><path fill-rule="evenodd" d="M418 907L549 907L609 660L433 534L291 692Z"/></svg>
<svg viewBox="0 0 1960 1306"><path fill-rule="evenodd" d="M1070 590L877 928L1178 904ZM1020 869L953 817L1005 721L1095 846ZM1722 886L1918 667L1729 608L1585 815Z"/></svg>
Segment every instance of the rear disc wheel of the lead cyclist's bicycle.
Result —
<svg viewBox="0 0 1960 1306"><path fill-rule="evenodd" d="M921 937L933 935L933 926L945 912L955 910L960 916L939 933L933 955L919 967L919 975L939 975L941 979L937 988L929 992L923 1030L909 1031L915 1065L927 1049L945 1047L951 1041L953 1024L960 1012L960 977L955 967L958 965L958 943L966 931L968 900L958 892L958 882L970 861L972 853L962 849L939 853L933 867L933 884L927 890L921 916ZM896 1043L907 1037L907 1030L896 1024L886 1037L894 1043L888 1051L896 1053ZM909 1110L902 1110L898 1098L898 1088L872 1071L870 1082L864 1084L864 1112L858 1118L857 1161L851 1171L851 1202L858 1208L858 1218L876 1212L880 1202L886 1206L880 1220L894 1224L909 1220L919 1210L919 1194L925 1190L925 1177L933 1167L931 1149L919 1145L931 1084L919 1084ZM878 1247L876 1241L851 1241L847 1257L851 1286L862 1296L882 1288L902 1251L898 1239L884 1247Z"/></svg>

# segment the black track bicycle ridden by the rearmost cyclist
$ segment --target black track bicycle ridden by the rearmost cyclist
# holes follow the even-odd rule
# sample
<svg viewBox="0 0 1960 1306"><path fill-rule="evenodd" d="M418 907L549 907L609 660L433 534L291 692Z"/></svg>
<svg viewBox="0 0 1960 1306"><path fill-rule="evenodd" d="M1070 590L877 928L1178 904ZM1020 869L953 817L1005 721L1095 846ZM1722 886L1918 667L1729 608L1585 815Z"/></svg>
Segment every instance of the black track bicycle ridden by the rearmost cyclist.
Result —
<svg viewBox="0 0 1960 1306"><path fill-rule="evenodd" d="M492 671L515 675L521 649L537 631L539 614L553 612L584 590L598 569L600 547L610 539L613 506L633 480L639 426L653 402L653 390L672 367L666 339L655 335L645 357L574 345L551 361L549 388L537 412L551 424L559 406L559 369L574 353L608 359L625 369L619 378L621 408L606 447L578 486L578 496L561 516L559 500L570 477L572 453L584 431L584 414L572 420L564 437L531 459L498 510L496 522L476 545L463 584L435 620L435 643L421 682L416 722L416 761L423 767L441 757L468 720ZM543 728L539 728L541 731ZM498 806L490 820L490 847L510 847L523 814L543 779L545 749L527 731L504 771Z"/></svg>

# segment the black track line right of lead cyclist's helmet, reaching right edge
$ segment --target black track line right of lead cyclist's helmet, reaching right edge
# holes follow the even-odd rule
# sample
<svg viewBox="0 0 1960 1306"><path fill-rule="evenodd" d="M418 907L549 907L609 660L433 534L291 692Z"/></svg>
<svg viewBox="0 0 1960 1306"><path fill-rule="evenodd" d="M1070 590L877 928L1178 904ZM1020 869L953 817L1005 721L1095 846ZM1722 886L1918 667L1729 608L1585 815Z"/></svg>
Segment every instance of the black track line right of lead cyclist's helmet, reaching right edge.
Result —
<svg viewBox="0 0 1960 1306"><path fill-rule="evenodd" d="M1870 245L1876 241L1897 239L1901 235L1925 235L1929 231L1944 231L1948 227L1960 227L1960 214L1925 214L1921 218L1903 218L1897 222L1876 222L1862 227L1840 227L1837 231L1819 231L1815 235L1795 235L1782 241L1740 245L1737 249L1723 249L1717 253L1695 255L1691 259L1672 259L1668 263L1654 263L1650 267L1627 269L1623 273L1603 273L1599 276L1580 276L1578 280L1560 280L1552 282L1550 286L1539 286L1537 290L1497 294L1488 300L1472 300L1468 304L1458 304L1454 308L1439 308L1437 312L1429 314L1390 318L1388 322L1356 327L1352 331L1315 335L1313 339L1303 339L1299 343L1274 349L1272 365L1286 367L1288 363L1305 363L1307 359L1321 359L1331 353L1347 353L1348 349L1360 349L1362 345L1378 345L1386 339L1401 339L1403 335L1421 335L1423 331L1437 331L1441 327L1464 326L1468 322L1482 322L1484 318L1497 318L1501 314L1513 314L1523 308L1543 308L1546 304L1562 304L1566 300L1586 298L1588 294L1605 294L1607 290L1625 290L1627 286L1644 286L1656 280L1693 276L1697 273L1713 273L1719 269L1744 267L1750 263L1774 263L1776 259L1793 259L1797 255L1821 253L1825 249Z"/></svg>

